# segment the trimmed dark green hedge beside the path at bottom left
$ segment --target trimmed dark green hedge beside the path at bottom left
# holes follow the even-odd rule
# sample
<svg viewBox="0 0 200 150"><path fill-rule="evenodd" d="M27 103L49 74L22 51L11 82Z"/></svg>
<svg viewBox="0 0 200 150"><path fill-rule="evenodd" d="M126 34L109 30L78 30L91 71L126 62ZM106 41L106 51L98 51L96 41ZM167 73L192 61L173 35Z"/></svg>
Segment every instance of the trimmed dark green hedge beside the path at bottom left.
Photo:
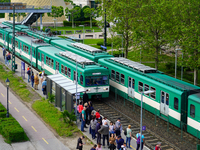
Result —
<svg viewBox="0 0 200 150"><path fill-rule="evenodd" d="M7 110L0 103L0 134L6 139L8 143L27 141L28 137L24 129L11 115L6 118Z"/></svg>

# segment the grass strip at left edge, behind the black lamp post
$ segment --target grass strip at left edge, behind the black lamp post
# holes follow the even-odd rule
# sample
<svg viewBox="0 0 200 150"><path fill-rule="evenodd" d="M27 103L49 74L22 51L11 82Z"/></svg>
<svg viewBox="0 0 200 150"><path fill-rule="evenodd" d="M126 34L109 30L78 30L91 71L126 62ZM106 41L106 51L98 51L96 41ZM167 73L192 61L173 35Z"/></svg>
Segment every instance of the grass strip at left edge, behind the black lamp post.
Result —
<svg viewBox="0 0 200 150"><path fill-rule="evenodd" d="M14 72L8 71L4 65L0 65L0 80L2 83L5 83L7 78L10 80L9 87L19 95L23 101L30 102L33 94L27 88L22 77L14 76Z"/></svg>

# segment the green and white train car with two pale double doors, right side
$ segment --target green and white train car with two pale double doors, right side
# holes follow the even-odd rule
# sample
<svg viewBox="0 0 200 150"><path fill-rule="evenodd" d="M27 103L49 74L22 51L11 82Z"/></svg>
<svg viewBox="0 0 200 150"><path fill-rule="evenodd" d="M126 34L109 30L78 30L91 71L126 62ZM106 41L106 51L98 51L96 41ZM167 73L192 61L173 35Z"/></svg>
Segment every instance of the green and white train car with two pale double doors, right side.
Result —
<svg viewBox="0 0 200 150"><path fill-rule="evenodd" d="M181 122L183 124L189 123L188 96L192 97L192 94L197 93L200 87L172 78L154 68L125 58L104 58L100 59L99 63L108 68L110 72L111 91L115 92L117 89L120 96L140 106L141 92L153 90L155 93L143 97L146 110L165 118L177 127L181 127ZM200 102L199 99L195 98L194 102L197 101ZM197 122L200 128L200 119Z"/></svg>

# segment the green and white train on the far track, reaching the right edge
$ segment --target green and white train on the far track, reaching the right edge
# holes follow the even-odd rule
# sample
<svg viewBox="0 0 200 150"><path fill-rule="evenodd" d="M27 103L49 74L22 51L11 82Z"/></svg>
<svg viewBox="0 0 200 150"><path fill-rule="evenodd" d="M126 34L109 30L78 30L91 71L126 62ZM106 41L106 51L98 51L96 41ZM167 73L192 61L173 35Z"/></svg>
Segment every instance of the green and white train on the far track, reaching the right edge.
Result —
<svg viewBox="0 0 200 150"><path fill-rule="evenodd" d="M187 127L188 133L200 138L200 115L198 113L200 109L200 87L167 76L140 63L113 57L85 44L48 37L47 35L41 36L41 32L31 31L26 26L19 25L17 27L18 31L22 31L23 28L28 35L43 39L46 43L55 46L56 49L60 50L60 53L68 50L91 61L98 62L108 71L106 76L109 77L110 90L139 106L141 92L155 91L152 94L144 95L144 108L179 128ZM7 30L6 32L11 32L10 29ZM3 34L5 30L2 29L0 32ZM2 44L1 37L0 34L0 43ZM45 47L50 47L50 45L41 46L38 49L45 49ZM44 50L41 52L44 53ZM49 55L51 53L53 52L49 52ZM58 54L55 54L55 56L58 57ZM59 58L61 57L59 56ZM41 62L39 61L39 63ZM40 66L37 67L41 69ZM62 71L59 69L59 72ZM85 80L87 79L85 78Z"/></svg>

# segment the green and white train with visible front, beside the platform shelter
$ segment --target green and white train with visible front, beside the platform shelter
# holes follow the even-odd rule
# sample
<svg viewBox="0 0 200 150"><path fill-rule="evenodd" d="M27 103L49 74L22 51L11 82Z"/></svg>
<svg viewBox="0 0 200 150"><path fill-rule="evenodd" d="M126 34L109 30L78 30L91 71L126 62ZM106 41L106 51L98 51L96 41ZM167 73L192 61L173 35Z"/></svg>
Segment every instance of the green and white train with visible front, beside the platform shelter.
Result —
<svg viewBox="0 0 200 150"><path fill-rule="evenodd" d="M5 44L10 52L12 37L10 28L0 26L0 45ZM76 81L77 62L78 84L87 91L89 98L101 99L109 96L109 72L94 61L60 50L24 32L16 32L15 54L29 64L32 58L32 65L39 70L45 70L47 75L60 73L73 82Z"/></svg>

